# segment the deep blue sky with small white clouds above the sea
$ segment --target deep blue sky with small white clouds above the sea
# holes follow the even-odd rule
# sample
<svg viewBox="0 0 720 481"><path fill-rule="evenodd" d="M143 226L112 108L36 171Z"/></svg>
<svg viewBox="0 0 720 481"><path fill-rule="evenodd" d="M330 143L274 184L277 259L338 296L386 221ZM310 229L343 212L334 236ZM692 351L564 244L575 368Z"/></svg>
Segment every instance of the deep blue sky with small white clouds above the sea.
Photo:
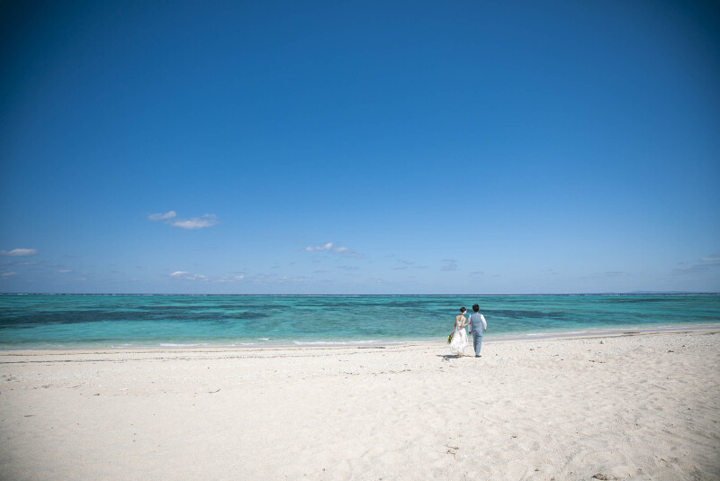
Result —
<svg viewBox="0 0 720 481"><path fill-rule="evenodd" d="M2 8L2 292L720 291L710 3Z"/></svg>

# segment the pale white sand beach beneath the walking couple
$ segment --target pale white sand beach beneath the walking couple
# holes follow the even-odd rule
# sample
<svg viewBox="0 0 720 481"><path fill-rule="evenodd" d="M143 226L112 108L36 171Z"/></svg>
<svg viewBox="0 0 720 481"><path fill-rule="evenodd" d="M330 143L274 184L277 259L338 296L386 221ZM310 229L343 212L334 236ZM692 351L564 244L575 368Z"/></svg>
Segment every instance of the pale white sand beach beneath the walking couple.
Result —
<svg viewBox="0 0 720 481"><path fill-rule="evenodd" d="M448 354L2 351L0 477L720 478L720 332Z"/></svg>

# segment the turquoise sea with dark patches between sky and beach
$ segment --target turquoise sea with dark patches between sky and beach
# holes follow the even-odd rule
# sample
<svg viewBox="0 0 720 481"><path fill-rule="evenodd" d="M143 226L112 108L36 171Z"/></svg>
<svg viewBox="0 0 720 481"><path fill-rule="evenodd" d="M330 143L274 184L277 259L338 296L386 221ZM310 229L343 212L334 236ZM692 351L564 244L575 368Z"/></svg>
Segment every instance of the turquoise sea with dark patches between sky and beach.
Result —
<svg viewBox="0 0 720 481"><path fill-rule="evenodd" d="M0 295L0 348L441 341L473 304L496 339L720 324L720 295Z"/></svg>

